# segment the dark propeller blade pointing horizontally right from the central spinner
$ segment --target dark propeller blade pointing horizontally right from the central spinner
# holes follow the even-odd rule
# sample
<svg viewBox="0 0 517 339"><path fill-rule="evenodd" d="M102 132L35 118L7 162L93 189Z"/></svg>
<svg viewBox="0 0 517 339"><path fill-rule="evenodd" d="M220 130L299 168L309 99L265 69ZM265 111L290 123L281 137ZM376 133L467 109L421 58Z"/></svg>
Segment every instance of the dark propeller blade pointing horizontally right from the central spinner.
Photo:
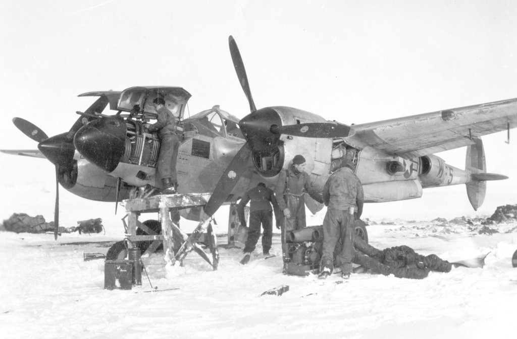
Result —
<svg viewBox="0 0 517 339"><path fill-rule="evenodd" d="M275 134L287 134L306 138L345 138L355 134L354 129L350 126L320 122L286 126L272 125L270 131Z"/></svg>

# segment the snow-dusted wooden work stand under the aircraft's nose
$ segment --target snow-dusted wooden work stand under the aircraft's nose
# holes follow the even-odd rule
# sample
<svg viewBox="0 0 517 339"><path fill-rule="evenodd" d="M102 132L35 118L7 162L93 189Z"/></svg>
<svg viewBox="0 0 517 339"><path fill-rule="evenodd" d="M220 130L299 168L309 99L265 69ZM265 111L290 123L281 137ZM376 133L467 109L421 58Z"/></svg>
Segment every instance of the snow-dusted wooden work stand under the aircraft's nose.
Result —
<svg viewBox="0 0 517 339"><path fill-rule="evenodd" d="M217 236L212 229L211 218L200 222L190 235L182 231L171 218L171 215L176 215L179 209L206 205L209 198L210 193L191 193L124 200L128 219L127 238L130 240L129 246L134 247L133 244L136 241L153 241L145 253L142 253L150 254L162 243L165 262L171 265L174 265L176 261L183 265L185 256L191 250L194 250L216 270L219 264L219 252L217 250ZM159 214L161 234L157 234L138 220L142 213ZM144 230L148 235L136 235L137 227ZM207 232L203 233L205 230ZM200 243L206 244L210 249L211 260ZM142 260L144 259L142 258Z"/></svg>

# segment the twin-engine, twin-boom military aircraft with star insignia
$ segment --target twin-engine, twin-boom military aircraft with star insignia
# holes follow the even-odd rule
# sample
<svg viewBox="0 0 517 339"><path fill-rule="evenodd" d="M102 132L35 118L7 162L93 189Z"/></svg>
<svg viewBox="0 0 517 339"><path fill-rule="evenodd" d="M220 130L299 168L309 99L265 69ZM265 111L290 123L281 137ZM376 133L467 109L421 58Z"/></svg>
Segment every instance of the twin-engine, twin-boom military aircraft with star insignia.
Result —
<svg viewBox="0 0 517 339"><path fill-rule="evenodd" d="M68 132L50 138L32 123L13 119L38 142L39 151L2 152L46 157L55 165L55 234L57 183L80 197L107 202L145 197L161 188L156 171L160 141L145 128L156 119L151 103L158 96L178 119L178 192L212 192L204 209L180 211L190 220L212 216L219 206L237 201L258 182L273 188L280 171L296 154L306 158L312 185L320 191L345 154L352 156L365 202L416 199L423 188L465 184L468 199L477 209L484 200L486 181L507 178L486 173L481 136L517 125L517 99L352 126L292 107L256 109L231 36L229 44L251 111L240 121L219 106L185 119L191 95L183 88L164 86L80 94L99 98L84 112L77 112L80 118ZM114 114L104 112L108 105ZM464 146L464 170L433 155ZM310 197L306 203L312 213L323 208Z"/></svg>

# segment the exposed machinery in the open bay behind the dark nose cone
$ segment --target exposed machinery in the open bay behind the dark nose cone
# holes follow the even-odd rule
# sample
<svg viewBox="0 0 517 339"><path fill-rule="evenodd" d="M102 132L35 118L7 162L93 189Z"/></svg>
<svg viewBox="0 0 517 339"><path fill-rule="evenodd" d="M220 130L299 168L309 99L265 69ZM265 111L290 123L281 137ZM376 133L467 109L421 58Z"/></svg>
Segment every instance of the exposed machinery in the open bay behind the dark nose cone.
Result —
<svg viewBox="0 0 517 339"><path fill-rule="evenodd" d="M120 162L156 167L160 140L154 134L144 133L144 126L140 121L126 122L126 126L126 143Z"/></svg>

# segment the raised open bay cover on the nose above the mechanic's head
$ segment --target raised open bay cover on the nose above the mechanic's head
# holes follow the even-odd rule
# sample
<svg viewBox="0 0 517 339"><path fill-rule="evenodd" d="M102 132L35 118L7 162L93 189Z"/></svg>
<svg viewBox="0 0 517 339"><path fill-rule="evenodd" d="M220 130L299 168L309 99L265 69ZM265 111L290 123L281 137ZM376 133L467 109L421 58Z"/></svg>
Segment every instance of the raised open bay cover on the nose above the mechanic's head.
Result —
<svg viewBox="0 0 517 339"><path fill-rule="evenodd" d="M140 113L156 116L153 106L155 98L163 98L167 107L176 118L183 119L185 106L190 98L190 93L181 87L143 86L130 87L120 93L117 108L130 112L135 105L140 107Z"/></svg>

